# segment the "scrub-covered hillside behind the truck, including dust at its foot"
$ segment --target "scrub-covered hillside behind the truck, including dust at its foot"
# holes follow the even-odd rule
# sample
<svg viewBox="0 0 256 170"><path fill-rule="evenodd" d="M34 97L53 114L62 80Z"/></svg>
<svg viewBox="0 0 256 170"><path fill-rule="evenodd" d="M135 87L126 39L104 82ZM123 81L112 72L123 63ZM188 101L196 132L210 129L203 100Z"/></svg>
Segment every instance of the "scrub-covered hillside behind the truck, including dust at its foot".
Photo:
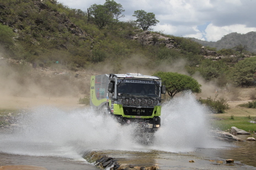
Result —
<svg viewBox="0 0 256 170"><path fill-rule="evenodd" d="M0 9L0 59L7 60L0 60L0 88L12 95L80 97L88 95L90 75L102 73L178 72L213 94L254 78L254 68L233 76L250 55L219 55L188 38L143 31L135 21L113 19L99 27L95 16L55 0L0 0Z"/></svg>

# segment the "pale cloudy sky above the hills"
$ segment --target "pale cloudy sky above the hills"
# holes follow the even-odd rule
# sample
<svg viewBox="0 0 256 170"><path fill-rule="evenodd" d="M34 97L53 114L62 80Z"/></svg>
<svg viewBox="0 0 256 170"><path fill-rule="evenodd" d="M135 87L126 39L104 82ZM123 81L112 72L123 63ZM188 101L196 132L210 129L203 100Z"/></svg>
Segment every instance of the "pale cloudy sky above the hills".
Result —
<svg viewBox="0 0 256 170"><path fill-rule="evenodd" d="M179 37L218 41L231 32L256 31L256 0L114 0L125 12L120 21L136 20L135 10L154 13L160 22L153 31ZM69 8L87 12L106 0L57 0Z"/></svg>

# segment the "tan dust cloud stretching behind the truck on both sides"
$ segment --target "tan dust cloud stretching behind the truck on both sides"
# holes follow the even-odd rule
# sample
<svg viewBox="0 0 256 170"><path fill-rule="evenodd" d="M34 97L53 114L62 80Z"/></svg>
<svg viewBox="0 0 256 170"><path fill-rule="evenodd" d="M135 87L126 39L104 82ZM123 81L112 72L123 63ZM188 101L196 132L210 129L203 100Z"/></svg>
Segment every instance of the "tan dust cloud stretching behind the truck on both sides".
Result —
<svg viewBox="0 0 256 170"><path fill-rule="evenodd" d="M90 76L104 73L142 73L152 75L156 71L170 71L189 75L185 69L186 60L175 63L155 63L143 54L134 54L126 58L115 58L99 64L88 65L84 70L72 72L47 67L32 68L24 61L10 60L7 54L0 53L0 109L4 107L30 107L39 104L58 104L77 106L79 98L89 95ZM10 66L11 65L11 66ZM79 74L75 78L76 74ZM205 81L199 73L193 75L202 86L197 98L225 98L241 100L239 90L227 84L217 87L215 80ZM179 94L178 94L179 95ZM255 94L254 97L255 98Z"/></svg>

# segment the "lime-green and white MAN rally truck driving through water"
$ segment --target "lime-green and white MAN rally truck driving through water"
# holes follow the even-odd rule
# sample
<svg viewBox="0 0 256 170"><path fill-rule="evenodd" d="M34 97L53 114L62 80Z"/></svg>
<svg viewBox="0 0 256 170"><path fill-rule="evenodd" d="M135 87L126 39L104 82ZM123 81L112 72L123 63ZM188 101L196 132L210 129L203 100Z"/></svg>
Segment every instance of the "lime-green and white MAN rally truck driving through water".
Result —
<svg viewBox="0 0 256 170"><path fill-rule="evenodd" d="M91 76L90 106L121 124L137 124L146 132L161 126L161 78L140 73Z"/></svg>

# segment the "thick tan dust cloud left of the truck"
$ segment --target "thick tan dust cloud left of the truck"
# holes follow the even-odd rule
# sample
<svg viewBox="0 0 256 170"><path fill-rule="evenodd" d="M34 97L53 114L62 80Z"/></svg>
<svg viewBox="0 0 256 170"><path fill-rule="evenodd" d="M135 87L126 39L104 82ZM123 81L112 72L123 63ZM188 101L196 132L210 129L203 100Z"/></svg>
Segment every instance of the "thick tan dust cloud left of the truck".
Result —
<svg viewBox="0 0 256 170"><path fill-rule="evenodd" d="M77 105L86 81L61 69L37 67L0 54L0 109L35 105ZM85 78L84 78L85 79Z"/></svg>

